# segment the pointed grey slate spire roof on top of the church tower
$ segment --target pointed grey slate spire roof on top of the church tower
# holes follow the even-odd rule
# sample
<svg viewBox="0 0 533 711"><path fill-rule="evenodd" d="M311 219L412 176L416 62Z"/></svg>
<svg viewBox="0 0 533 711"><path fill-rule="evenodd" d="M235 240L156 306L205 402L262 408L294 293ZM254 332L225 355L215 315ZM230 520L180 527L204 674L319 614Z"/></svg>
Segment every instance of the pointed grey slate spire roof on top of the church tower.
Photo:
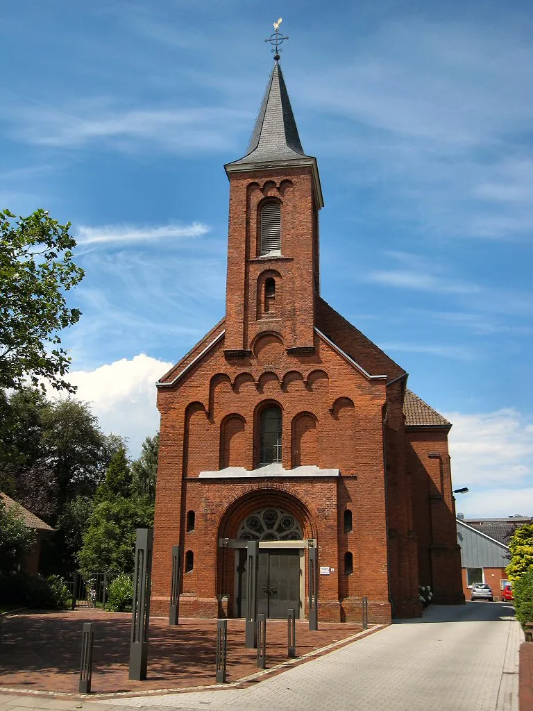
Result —
<svg viewBox="0 0 533 711"><path fill-rule="evenodd" d="M303 151L283 73L276 62L266 85L246 155L228 165L294 161L309 157Z"/></svg>

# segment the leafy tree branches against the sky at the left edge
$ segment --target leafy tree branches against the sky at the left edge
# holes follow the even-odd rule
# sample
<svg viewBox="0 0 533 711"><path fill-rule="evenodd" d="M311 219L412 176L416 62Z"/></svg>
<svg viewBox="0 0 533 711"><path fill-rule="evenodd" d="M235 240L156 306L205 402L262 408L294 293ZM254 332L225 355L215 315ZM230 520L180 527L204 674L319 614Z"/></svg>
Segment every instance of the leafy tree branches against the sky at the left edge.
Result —
<svg viewBox="0 0 533 711"><path fill-rule="evenodd" d="M81 315L65 299L84 275L72 261L69 229L45 210L27 218L0 212L0 387L18 389L28 378L43 387L46 378L75 390L64 380L70 357L59 336Z"/></svg>

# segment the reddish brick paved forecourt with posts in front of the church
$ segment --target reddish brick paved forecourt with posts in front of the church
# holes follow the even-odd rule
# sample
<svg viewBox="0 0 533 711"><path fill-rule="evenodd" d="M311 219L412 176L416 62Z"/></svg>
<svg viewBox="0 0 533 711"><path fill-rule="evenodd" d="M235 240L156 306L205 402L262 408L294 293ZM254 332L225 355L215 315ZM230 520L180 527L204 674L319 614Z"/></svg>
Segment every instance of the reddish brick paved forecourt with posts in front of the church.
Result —
<svg viewBox="0 0 533 711"><path fill-rule="evenodd" d="M75 610L18 614L4 621L0 641L0 690L77 692L82 623L95 623L93 693L187 688L215 683L216 620L186 619L176 627L152 619L148 679L128 679L131 614ZM321 624L317 632L296 623L298 656L348 638L354 624ZM285 621L267 623L267 666L286 661ZM244 621L228 620L227 681L257 672L255 650L244 647Z"/></svg>

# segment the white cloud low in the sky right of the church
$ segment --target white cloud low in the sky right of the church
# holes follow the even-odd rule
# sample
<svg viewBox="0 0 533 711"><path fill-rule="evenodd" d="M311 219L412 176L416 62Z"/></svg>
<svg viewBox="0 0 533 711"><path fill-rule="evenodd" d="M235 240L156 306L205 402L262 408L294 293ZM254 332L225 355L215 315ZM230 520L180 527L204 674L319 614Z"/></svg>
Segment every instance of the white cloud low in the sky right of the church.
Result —
<svg viewBox="0 0 533 711"><path fill-rule="evenodd" d="M453 483L467 516L533 515L533 424L512 408L465 415L449 412Z"/></svg>

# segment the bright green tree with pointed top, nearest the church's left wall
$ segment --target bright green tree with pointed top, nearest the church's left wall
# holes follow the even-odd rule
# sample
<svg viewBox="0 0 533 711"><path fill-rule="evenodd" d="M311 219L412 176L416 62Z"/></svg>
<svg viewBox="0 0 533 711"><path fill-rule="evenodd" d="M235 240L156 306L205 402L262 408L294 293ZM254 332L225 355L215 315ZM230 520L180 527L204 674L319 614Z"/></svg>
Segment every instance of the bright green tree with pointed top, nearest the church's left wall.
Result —
<svg viewBox="0 0 533 711"><path fill-rule="evenodd" d="M78 554L82 573L131 573L137 528L154 523L154 505L134 492L124 448L114 454L95 496Z"/></svg>

